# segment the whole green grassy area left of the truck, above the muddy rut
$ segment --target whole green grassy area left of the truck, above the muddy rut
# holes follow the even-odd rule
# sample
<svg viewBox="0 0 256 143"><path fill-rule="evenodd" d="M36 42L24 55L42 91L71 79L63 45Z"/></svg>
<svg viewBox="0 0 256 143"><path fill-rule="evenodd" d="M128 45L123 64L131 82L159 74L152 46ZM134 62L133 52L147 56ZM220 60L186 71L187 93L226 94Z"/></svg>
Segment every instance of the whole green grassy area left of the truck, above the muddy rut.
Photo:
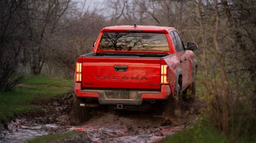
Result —
<svg viewBox="0 0 256 143"><path fill-rule="evenodd" d="M47 78L43 76L25 77L22 84L9 92L0 91L0 121L6 122L26 112L41 109L40 106L31 104L37 96L52 97L56 94L67 92L72 87L71 80ZM58 87L58 88L52 88Z"/></svg>

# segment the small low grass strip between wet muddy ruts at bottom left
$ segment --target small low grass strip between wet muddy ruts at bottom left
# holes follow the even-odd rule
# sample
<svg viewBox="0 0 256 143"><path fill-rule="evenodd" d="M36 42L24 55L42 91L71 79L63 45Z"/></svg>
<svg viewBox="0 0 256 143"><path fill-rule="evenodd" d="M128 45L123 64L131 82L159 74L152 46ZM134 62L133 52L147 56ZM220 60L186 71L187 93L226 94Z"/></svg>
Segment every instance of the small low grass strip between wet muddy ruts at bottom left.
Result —
<svg viewBox="0 0 256 143"><path fill-rule="evenodd" d="M33 142L52 142L55 140L61 140L65 138L69 138L72 135L81 133L79 131L70 131L70 132L64 132L64 133L57 133L57 134L49 134L49 135L43 135L42 137L33 138L31 140L28 140L27 142L33 143Z"/></svg>

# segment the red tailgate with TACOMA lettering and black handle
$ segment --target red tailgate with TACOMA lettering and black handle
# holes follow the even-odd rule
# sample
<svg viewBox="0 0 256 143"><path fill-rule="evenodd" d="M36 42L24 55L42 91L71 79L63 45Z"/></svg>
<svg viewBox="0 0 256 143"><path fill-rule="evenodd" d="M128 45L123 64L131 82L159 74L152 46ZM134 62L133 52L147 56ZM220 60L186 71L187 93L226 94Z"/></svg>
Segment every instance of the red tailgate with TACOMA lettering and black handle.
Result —
<svg viewBox="0 0 256 143"><path fill-rule="evenodd" d="M83 58L83 88L160 89L160 58Z"/></svg>

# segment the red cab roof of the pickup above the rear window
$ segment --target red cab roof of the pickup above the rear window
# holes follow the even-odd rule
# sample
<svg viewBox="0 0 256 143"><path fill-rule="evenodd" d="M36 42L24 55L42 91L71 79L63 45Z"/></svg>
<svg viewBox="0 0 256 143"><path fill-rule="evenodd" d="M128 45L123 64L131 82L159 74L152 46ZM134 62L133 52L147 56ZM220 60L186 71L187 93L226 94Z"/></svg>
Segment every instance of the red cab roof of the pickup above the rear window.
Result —
<svg viewBox="0 0 256 143"><path fill-rule="evenodd" d="M166 26L144 26L144 25L120 25L120 26L109 26L102 29L102 32L110 31L126 31L126 30L141 30L145 32L168 32L170 29L175 29L173 27Z"/></svg>

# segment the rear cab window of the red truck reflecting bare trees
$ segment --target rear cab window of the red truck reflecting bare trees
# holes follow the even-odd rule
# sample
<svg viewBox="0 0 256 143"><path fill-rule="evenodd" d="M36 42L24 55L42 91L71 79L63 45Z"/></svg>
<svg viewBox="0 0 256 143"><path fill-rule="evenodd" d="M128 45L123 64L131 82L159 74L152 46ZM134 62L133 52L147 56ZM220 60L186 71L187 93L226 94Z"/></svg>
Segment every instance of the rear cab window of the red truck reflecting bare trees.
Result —
<svg viewBox="0 0 256 143"><path fill-rule="evenodd" d="M164 33L105 32L98 49L100 51L169 52Z"/></svg>

